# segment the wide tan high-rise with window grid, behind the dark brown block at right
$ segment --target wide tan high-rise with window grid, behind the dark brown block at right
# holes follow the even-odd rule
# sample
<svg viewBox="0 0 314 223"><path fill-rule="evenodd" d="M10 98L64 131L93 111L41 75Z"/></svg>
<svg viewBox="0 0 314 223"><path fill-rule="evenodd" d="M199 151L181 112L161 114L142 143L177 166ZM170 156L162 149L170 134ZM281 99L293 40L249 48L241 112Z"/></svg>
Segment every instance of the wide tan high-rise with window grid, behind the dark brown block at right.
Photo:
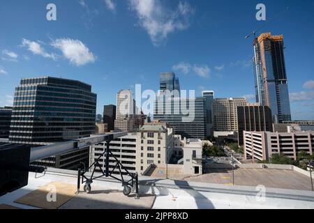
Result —
<svg viewBox="0 0 314 223"><path fill-rule="evenodd" d="M246 106L245 98L216 98L213 102L215 132L237 132L237 107Z"/></svg>

